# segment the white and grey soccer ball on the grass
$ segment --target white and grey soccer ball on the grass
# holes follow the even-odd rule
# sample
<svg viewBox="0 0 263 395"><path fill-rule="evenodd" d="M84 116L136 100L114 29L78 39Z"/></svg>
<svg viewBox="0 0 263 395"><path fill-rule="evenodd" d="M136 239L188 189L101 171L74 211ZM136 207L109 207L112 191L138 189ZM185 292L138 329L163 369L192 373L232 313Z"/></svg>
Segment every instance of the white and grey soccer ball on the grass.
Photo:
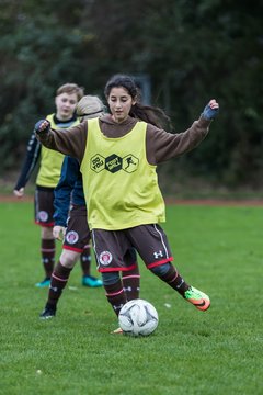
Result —
<svg viewBox="0 0 263 395"><path fill-rule="evenodd" d="M158 326L158 313L147 301L137 298L127 302L118 315L118 324L124 334L148 336Z"/></svg>

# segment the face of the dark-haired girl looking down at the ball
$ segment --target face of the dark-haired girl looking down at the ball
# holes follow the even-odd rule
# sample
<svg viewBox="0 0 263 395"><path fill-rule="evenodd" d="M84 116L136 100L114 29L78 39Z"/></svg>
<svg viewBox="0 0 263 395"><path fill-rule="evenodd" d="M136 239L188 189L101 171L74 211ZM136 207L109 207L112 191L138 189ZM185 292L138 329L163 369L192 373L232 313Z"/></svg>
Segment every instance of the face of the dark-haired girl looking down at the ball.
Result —
<svg viewBox="0 0 263 395"><path fill-rule="evenodd" d="M117 123L124 122L129 114L132 105L136 103L136 100L132 98L125 88L112 88L107 98L107 103L113 116L113 120Z"/></svg>

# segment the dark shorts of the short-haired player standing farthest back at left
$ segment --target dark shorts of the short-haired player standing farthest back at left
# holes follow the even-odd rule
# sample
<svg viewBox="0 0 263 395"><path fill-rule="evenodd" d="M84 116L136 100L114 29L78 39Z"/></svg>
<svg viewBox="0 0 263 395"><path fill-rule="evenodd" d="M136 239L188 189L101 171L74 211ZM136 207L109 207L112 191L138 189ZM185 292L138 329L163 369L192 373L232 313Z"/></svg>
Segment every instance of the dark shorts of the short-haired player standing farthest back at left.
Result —
<svg viewBox="0 0 263 395"><path fill-rule="evenodd" d="M36 185L35 223L41 226L54 226L54 188Z"/></svg>

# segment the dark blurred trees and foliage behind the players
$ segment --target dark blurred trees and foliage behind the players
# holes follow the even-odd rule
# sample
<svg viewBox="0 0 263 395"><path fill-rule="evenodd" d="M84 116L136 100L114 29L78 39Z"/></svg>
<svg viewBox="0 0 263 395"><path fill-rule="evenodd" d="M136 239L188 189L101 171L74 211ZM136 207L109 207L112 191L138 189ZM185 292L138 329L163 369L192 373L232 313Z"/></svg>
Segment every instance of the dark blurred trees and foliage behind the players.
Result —
<svg viewBox="0 0 263 395"><path fill-rule="evenodd" d="M59 84L75 81L103 97L112 74L147 74L152 104L170 113L174 132L185 129L211 97L220 102L209 137L176 167L227 184L261 183L263 4L24 0L5 1L3 11L0 158L9 157L5 168L35 120L53 110Z"/></svg>

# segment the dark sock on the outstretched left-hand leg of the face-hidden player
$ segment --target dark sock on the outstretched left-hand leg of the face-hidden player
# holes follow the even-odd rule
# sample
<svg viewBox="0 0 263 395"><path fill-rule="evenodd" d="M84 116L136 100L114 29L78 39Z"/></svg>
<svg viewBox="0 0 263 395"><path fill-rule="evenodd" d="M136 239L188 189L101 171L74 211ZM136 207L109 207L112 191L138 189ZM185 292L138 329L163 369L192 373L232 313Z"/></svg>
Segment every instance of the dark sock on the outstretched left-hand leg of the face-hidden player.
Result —
<svg viewBox="0 0 263 395"><path fill-rule="evenodd" d="M56 264L54 272L52 273L52 282L49 285L47 304L56 308L62 290L67 285L70 272L72 269L65 268L60 261Z"/></svg>

